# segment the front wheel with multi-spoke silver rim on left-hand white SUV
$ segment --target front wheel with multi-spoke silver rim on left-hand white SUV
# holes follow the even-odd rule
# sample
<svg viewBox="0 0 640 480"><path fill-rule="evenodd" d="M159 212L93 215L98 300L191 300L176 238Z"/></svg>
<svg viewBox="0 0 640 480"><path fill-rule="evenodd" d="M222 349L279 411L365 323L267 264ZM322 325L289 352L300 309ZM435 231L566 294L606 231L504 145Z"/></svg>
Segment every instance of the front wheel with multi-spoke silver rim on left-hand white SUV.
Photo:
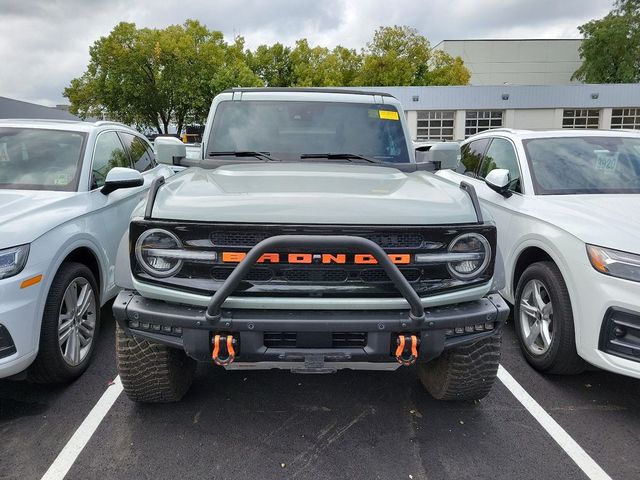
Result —
<svg viewBox="0 0 640 480"><path fill-rule="evenodd" d="M87 369L100 330L100 295L89 268L65 262L53 279L42 315L38 356L28 378L64 383Z"/></svg>

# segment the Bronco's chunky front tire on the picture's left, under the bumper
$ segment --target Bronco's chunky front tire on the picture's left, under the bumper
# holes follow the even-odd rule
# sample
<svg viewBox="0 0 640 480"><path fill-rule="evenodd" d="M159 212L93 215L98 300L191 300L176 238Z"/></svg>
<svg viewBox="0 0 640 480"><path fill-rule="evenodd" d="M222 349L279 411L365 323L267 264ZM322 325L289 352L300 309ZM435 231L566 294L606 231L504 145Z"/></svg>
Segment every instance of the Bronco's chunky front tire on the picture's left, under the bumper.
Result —
<svg viewBox="0 0 640 480"><path fill-rule="evenodd" d="M116 361L122 386L134 402L177 402L189 390L196 361L182 350L128 336L116 327Z"/></svg>

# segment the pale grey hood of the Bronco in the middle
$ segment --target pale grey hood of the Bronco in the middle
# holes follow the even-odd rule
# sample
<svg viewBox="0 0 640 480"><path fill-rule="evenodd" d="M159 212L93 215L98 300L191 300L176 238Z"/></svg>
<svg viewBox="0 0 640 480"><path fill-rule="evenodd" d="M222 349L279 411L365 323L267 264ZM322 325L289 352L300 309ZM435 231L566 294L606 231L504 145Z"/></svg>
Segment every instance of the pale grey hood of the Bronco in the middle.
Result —
<svg viewBox="0 0 640 480"><path fill-rule="evenodd" d="M189 168L160 189L152 215L202 222L325 225L476 221L467 194L433 175L311 162Z"/></svg>

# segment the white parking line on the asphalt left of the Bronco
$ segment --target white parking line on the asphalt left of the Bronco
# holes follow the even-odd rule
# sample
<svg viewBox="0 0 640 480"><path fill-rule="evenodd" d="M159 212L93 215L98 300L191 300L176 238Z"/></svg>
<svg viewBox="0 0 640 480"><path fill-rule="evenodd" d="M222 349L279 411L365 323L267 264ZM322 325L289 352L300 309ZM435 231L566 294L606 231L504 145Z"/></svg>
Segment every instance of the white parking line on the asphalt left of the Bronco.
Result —
<svg viewBox="0 0 640 480"><path fill-rule="evenodd" d="M42 480L62 480L65 477L121 393L122 382L120 376L117 376L42 476Z"/></svg>

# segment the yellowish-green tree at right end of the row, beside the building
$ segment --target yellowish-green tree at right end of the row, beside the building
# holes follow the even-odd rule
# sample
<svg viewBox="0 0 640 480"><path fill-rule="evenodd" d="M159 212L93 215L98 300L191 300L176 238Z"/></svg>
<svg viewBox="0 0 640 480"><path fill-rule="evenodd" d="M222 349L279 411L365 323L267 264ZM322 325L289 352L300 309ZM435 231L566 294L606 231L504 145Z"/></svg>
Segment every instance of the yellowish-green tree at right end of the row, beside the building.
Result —
<svg viewBox="0 0 640 480"><path fill-rule="evenodd" d="M469 70L462 59L431 49L415 28L380 27L363 51L361 85L465 85Z"/></svg>

